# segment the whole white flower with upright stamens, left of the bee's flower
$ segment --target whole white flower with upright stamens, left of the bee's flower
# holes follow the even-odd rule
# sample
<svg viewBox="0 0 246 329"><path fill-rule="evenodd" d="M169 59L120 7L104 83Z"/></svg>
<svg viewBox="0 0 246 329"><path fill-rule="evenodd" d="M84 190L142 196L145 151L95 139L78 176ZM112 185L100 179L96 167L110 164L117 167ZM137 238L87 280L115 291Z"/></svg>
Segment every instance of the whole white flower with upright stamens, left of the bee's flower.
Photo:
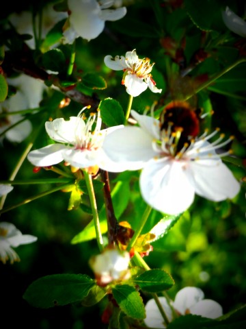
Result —
<svg viewBox="0 0 246 329"><path fill-rule="evenodd" d="M70 117L68 121L63 118L47 121L46 132L53 141L58 143L31 151L27 159L38 167L49 167L64 160L75 168L85 169L98 166L105 170L111 169L110 160L101 147L102 141L106 134L121 126L100 130L102 120L98 113L96 127L92 131L96 113L91 113L85 123L81 112L77 117Z"/></svg>

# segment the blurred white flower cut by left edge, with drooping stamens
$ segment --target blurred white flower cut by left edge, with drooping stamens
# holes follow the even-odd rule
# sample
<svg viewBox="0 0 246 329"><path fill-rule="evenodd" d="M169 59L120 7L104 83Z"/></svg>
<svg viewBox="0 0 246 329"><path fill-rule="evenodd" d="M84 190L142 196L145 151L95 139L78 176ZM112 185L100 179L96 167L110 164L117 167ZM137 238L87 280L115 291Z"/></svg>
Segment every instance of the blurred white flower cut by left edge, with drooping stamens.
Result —
<svg viewBox="0 0 246 329"><path fill-rule="evenodd" d="M18 254L12 249L12 247L18 247L19 245L26 245L37 241L37 237L29 234L22 234L20 230L12 223L5 221L0 222L0 260L5 264L7 260L13 264L16 261L20 261Z"/></svg>

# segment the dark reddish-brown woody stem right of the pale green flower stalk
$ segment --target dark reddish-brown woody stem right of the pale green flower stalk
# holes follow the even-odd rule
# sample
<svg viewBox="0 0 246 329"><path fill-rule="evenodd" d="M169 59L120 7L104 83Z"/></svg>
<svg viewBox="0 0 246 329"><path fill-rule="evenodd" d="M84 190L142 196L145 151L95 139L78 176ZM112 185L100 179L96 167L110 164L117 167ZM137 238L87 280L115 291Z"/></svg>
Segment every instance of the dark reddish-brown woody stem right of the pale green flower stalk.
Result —
<svg viewBox="0 0 246 329"><path fill-rule="evenodd" d="M102 176L102 181L104 182L103 191L104 191L104 199L105 199L109 245L115 245L115 232L118 226L118 221L115 217L115 213L113 210L113 202L111 198L110 184L109 184L109 173L102 169L100 170L100 173Z"/></svg>

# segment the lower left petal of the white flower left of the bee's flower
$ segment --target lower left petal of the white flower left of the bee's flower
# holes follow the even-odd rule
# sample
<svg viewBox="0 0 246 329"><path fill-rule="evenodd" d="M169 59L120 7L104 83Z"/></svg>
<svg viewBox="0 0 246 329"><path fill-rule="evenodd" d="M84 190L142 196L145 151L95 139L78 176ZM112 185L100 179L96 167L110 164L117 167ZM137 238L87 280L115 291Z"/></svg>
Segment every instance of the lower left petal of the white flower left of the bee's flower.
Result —
<svg viewBox="0 0 246 329"><path fill-rule="evenodd" d="M31 151L27 155L27 159L34 166L49 167L64 160L61 151L65 148L66 146L62 144L51 144L46 147L42 147L42 149Z"/></svg>

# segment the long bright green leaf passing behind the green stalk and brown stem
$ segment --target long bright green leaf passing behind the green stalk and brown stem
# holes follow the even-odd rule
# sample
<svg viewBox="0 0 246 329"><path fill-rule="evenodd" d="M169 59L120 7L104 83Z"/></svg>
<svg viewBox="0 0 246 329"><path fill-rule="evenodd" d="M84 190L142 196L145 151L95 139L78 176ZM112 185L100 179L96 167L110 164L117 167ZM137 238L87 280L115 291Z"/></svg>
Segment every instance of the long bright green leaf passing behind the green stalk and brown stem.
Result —
<svg viewBox="0 0 246 329"><path fill-rule="evenodd" d="M130 198L130 190L128 182L117 182L115 188L111 193L112 202L113 202L113 210L115 212L115 217L120 218L122 212L126 209L128 205L128 201ZM105 212L105 204L103 204L102 208L99 211L100 218L100 231L102 234L107 232L107 217ZM96 239L96 231L94 228L94 221L90 221L87 226L81 231L79 234L74 236L71 243L81 243L85 241L90 241L92 239Z"/></svg>

